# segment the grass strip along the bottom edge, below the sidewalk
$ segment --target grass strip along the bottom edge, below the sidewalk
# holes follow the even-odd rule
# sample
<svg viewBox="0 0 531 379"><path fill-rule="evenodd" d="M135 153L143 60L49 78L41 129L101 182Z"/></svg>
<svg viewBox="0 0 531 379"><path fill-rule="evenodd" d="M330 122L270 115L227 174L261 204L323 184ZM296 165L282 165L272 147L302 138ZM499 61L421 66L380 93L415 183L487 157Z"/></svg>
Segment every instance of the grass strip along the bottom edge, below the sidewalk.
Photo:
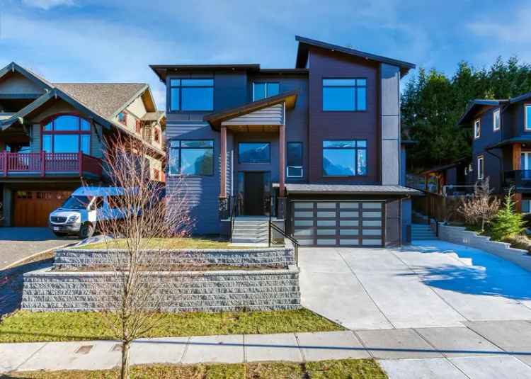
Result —
<svg viewBox="0 0 531 379"><path fill-rule="evenodd" d="M118 370L29 371L9 378L81 379L117 378ZM212 365L133 366L132 378L194 379L385 379L387 375L371 359L343 359L307 363L265 362Z"/></svg>

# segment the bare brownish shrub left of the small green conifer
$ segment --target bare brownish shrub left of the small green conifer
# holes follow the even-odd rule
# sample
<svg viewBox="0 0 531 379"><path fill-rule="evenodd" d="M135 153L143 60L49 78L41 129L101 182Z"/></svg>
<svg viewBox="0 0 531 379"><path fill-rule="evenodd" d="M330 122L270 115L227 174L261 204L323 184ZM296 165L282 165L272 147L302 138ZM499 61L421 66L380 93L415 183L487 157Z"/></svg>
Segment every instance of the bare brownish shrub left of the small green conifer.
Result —
<svg viewBox="0 0 531 379"><path fill-rule="evenodd" d="M485 225L496 216L500 208L500 199L492 196L493 188L489 188L489 178L481 181L474 188L472 197L463 198L459 213L469 225L481 225L481 232Z"/></svg>

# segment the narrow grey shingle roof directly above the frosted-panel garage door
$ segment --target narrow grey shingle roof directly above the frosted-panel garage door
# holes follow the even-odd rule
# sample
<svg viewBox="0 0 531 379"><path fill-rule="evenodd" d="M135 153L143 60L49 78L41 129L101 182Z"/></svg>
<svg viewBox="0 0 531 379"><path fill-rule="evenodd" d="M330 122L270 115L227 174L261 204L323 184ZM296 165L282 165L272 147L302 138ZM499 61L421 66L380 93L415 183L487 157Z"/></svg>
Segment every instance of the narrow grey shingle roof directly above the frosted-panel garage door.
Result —
<svg viewBox="0 0 531 379"><path fill-rule="evenodd" d="M278 183L275 183L278 186ZM404 186L377 186L359 184L302 184L286 183L287 193L332 193L359 195L420 195L421 192Z"/></svg>

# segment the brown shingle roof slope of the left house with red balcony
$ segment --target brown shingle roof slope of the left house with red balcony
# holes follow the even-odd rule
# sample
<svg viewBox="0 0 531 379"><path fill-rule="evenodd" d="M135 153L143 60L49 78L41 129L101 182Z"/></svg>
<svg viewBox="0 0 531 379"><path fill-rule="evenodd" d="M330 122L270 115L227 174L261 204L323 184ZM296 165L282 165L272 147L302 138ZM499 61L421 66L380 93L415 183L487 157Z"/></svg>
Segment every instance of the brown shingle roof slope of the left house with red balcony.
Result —
<svg viewBox="0 0 531 379"><path fill-rule="evenodd" d="M147 88L145 83L56 83L54 86L109 119Z"/></svg>

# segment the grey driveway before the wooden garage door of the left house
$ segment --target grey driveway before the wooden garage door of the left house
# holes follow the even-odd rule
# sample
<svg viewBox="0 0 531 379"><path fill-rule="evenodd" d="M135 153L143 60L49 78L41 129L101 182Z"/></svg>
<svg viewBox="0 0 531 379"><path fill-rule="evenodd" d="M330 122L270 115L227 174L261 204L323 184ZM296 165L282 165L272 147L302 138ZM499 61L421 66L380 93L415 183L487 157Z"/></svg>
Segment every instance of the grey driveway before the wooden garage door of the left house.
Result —
<svg viewBox="0 0 531 379"><path fill-rule="evenodd" d="M40 251L78 241L55 237L47 227L0 227L0 270Z"/></svg>

